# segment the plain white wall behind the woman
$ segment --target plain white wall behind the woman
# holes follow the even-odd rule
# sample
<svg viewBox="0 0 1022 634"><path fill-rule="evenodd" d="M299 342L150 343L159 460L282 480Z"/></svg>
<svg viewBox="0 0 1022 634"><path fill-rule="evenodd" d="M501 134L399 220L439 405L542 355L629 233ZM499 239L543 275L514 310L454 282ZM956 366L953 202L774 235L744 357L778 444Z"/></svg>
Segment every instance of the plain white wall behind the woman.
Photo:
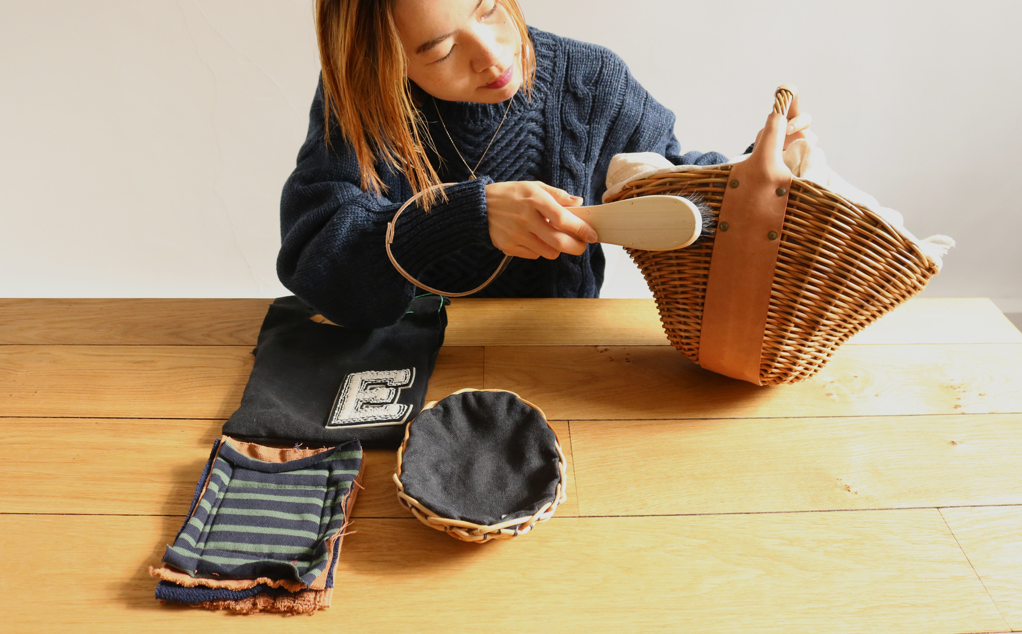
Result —
<svg viewBox="0 0 1022 634"><path fill-rule="evenodd" d="M959 248L931 296L1022 310L1022 3L521 0L736 154L798 85L831 164ZM269 297L317 76L312 0L0 3L0 296ZM647 291L608 249L604 296Z"/></svg>

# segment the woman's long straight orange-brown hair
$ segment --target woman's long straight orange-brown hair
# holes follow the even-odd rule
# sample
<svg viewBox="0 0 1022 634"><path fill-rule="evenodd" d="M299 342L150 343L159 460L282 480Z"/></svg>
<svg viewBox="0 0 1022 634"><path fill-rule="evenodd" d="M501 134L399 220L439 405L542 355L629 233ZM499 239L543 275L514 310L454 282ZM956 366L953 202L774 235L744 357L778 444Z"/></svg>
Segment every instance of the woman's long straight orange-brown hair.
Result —
<svg viewBox="0 0 1022 634"><path fill-rule="evenodd" d="M517 0L497 0L521 36L526 94L536 55ZM316 35L323 65L323 123L326 142L337 126L355 149L362 189L380 194L386 186L377 164L404 172L416 194L439 182L423 142L432 143L415 106L406 77L405 49L393 19L397 0L317 0ZM424 196L426 208L436 200Z"/></svg>

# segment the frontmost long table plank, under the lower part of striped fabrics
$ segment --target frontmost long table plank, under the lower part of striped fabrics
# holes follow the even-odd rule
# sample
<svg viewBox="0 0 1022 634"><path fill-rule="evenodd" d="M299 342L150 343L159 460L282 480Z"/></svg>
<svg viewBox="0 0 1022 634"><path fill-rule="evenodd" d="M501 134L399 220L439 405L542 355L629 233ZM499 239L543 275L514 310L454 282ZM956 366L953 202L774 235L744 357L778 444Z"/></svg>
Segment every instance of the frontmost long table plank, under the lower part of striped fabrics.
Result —
<svg viewBox="0 0 1022 634"><path fill-rule="evenodd" d="M515 631L946 633L1007 630L936 509L554 518L522 538L458 542L412 519L357 520L334 605L300 626L159 606L156 564L180 518L0 517L0 549L74 544L59 567L12 557L7 627L33 632ZM522 575L527 571L527 582ZM25 579L33 579L27 584ZM40 592L58 579L60 601ZM481 587L480 587L481 586ZM466 588L472 588L471 597ZM490 591L490 588L514 588ZM484 598L480 597L484 594ZM16 607L16 608L15 608ZM402 616L416 615L415 619Z"/></svg>

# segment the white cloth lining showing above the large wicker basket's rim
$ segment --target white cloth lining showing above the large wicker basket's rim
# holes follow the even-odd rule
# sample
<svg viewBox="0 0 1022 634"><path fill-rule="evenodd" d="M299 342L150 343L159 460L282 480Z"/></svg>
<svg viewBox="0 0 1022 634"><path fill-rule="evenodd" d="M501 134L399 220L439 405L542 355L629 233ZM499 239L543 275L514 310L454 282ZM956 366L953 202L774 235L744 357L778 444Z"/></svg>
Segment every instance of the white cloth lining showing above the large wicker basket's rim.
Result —
<svg viewBox="0 0 1022 634"><path fill-rule="evenodd" d="M749 154L742 154L725 164L741 162L748 157ZM943 265L941 258L947 253L947 249L955 246L955 241L947 236L930 236L926 240L920 240L914 236L911 231L905 229L904 218L899 212L890 207L880 206L880 202L876 198L838 176L827 164L827 155L824 154L824 151L805 139L793 141L788 146L788 149L784 151L784 162L795 177L826 187L850 202L875 211L899 234L916 243L926 257L933 262L937 271ZM656 152L617 154L610 159L610 165L607 167L607 191L603 194L603 201L606 202L608 198L620 192L632 181L671 172L709 169L714 166L676 165Z"/></svg>

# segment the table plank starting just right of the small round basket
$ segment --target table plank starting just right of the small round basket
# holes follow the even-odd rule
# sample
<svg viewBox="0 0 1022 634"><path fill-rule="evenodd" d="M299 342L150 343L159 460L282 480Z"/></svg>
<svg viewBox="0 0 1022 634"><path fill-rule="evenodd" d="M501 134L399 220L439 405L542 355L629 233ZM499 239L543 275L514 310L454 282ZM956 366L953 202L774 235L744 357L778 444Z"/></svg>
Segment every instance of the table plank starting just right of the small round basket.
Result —
<svg viewBox="0 0 1022 634"><path fill-rule="evenodd" d="M1022 414L573 421L571 443L584 516L1022 504L1020 428Z"/></svg>

